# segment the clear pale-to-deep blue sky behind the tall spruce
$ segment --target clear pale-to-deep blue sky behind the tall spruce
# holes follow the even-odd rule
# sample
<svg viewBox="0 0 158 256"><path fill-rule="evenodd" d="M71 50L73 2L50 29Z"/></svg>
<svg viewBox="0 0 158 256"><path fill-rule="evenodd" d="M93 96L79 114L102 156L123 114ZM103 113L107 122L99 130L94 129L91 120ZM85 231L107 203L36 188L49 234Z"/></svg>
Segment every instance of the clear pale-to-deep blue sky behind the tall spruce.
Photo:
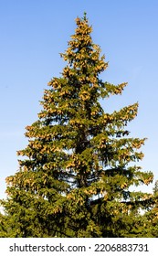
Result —
<svg viewBox="0 0 158 256"><path fill-rule="evenodd" d="M112 111L139 101L129 129L131 136L148 138L140 165L158 179L158 1L0 0L1 198L5 177L18 169L16 151L27 144L25 127L37 120L47 82L66 65L58 53L84 11L94 43L109 61L103 80L129 83L122 96L102 105Z"/></svg>

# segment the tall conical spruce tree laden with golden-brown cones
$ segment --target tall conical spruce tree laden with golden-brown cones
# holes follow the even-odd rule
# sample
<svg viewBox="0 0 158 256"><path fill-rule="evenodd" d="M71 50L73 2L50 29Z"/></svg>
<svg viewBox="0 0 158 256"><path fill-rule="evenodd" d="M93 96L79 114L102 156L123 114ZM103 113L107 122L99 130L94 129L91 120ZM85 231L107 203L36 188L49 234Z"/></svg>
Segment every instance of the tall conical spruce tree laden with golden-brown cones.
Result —
<svg viewBox="0 0 158 256"><path fill-rule="evenodd" d="M37 122L26 127L28 144L17 152L19 170L6 178L10 237L139 237L140 210L153 203L152 194L131 189L153 181L137 165L145 139L127 129L138 103L105 112L100 99L127 83L100 79L108 63L86 14L76 24L61 54L67 65L48 82Z"/></svg>

